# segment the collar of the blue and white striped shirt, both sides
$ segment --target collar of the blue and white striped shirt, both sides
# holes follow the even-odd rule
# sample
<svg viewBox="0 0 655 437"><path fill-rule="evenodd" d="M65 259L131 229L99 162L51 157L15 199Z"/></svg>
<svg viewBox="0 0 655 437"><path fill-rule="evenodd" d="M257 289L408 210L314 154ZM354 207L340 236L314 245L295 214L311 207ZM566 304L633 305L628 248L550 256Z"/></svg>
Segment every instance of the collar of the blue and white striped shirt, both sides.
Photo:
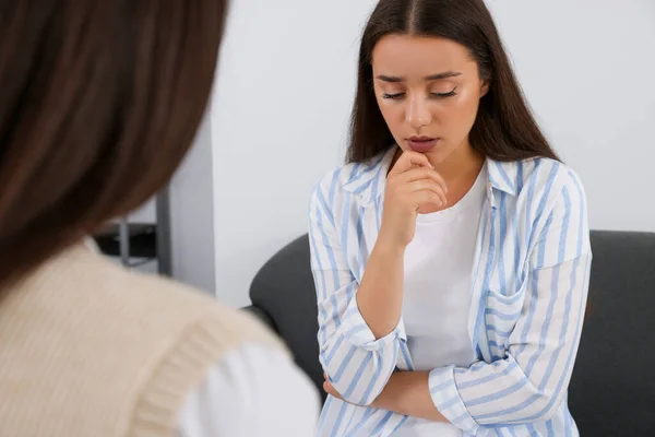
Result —
<svg viewBox="0 0 655 437"><path fill-rule="evenodd" d="M344 189L353 194L359 196L365 204L378 200L386 187L386 174L395 155L397 146L390 147L386 152L373 157L367 163L354 164L348 181ZM487 197L492 202L491 189L516 196L517 172L521 162L500 162L487 158Z"/></svg>

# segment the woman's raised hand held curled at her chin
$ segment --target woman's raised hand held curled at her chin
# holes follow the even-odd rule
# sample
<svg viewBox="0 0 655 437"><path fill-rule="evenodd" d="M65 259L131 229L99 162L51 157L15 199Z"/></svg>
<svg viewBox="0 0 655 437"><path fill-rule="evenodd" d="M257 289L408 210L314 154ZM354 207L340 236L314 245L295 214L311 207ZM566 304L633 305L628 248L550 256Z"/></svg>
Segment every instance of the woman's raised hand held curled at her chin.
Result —
<svg viewBox="0 0 655 437"><path fill-rule="evenodd" d="M405 248L413 239L419 211L446 204L448 188L427 156L403 152L386 177L384 212L378 240Z"/></svg>

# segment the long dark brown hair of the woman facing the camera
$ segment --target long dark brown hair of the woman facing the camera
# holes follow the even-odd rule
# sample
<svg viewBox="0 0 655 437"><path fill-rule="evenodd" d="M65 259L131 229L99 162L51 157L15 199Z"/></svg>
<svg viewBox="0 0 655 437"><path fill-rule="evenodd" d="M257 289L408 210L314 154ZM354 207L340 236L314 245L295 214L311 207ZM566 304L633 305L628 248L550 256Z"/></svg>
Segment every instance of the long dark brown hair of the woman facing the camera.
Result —
<svg viewBox="0 0 655 437"><path fill-rule="evenodd" d="M381 0L364 32L347 162L370 160L394 143L373 92L371 54L385 35L448 38L468 48L480 79L489 81L471 130L472 146L497 161L550 157L483 0Z"/></svg>

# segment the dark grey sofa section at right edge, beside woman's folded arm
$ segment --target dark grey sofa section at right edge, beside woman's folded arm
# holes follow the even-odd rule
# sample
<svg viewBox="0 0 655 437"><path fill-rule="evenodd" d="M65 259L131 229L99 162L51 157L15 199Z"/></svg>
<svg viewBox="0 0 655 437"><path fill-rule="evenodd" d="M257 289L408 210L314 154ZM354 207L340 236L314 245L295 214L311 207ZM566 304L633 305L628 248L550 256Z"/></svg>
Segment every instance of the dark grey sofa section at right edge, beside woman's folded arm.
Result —
<svg viewBox="0 0 655 437"><path fill-rule="evenodd" d="M655 436L655 234L592 232L592 251L571 414L582 436Z"/></svg>

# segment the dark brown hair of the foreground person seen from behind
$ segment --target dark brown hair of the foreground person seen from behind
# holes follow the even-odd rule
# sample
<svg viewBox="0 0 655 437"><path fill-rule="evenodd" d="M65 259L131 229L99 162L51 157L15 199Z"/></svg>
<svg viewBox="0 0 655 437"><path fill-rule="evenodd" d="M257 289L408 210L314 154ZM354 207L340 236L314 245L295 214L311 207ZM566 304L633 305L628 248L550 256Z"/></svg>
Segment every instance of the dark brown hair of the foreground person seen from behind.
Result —
<svg viewBox="0 0 655 437"><path fill-rule="evenodd" d="M211 91L224 0L0 2L0 283L171 177Z"/></svg>

